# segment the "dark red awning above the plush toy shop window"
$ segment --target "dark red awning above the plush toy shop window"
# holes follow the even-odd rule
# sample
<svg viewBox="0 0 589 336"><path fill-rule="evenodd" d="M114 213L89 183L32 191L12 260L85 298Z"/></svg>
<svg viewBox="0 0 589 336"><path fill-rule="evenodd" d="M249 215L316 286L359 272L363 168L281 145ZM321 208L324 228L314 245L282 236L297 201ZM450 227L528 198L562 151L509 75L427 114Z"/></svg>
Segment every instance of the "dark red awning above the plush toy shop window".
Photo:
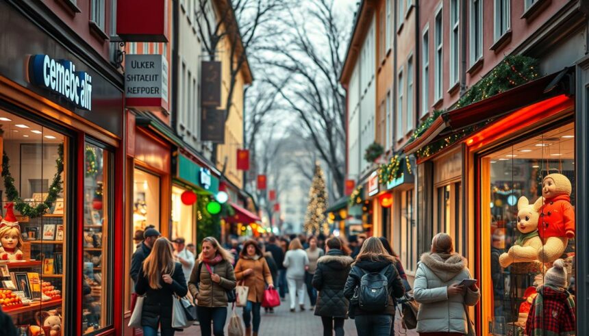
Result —
<svg viewBox="0 0 589 336"><path fill-rule="evenodd" d="M405 146L405 153L414 153L423 146L466 127L479 125L486 120L496 120L515 109L561 94L560 82L566 73L568 73L568 68L560 73L553 73L530 81L477 103L444 112L419 138Z"/></svg>

